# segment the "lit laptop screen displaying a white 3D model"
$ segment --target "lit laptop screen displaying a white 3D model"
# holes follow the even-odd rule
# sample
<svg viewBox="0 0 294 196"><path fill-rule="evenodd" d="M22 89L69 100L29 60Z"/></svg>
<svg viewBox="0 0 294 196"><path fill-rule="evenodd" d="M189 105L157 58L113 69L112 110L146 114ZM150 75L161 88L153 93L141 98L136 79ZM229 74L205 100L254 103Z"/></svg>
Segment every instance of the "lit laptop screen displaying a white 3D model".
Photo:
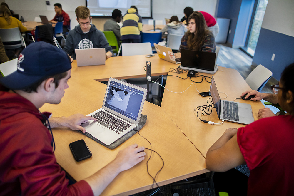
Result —
<svg viewBox="0 0 294 196"><path fill-rule="evenodd" d="M104 106L128 118L137 120L144 92L110 81Z"/></svg>

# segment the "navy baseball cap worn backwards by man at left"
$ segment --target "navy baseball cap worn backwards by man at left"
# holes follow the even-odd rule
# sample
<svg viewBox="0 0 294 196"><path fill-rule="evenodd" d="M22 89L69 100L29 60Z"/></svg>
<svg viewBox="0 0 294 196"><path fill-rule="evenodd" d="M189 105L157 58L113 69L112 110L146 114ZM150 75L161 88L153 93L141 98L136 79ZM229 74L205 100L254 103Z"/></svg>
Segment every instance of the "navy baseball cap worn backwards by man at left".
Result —
<svg viewBox="0 0 294 196"><path fill-rule="evenodd" d="M0 79L12 90L23 90L48 76L71 69L71 61L61 48L44 41L31 43L19 55L17 71Z"/></svg>

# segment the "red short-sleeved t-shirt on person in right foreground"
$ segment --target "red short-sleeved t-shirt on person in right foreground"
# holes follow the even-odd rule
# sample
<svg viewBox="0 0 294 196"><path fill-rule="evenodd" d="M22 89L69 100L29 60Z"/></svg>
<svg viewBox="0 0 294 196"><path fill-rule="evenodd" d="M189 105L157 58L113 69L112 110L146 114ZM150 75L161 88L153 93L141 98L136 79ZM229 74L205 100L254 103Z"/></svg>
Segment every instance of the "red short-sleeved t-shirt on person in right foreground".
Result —
<svg viewBox="0 0 294 196"><path fill-rule="evenodd" d="M294 116L274 116L238 129L238 145L251 170L247 195L294 194Z"/></svg>

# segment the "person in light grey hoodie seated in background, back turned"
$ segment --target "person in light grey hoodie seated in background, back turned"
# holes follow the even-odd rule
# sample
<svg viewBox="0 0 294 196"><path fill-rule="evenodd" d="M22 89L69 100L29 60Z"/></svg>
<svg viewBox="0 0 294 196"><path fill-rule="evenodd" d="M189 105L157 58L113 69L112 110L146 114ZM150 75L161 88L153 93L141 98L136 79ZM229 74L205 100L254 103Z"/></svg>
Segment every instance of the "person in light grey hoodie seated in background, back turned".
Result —
<svg viewBox="0 0 294 196"><path fill-rule="evenodd" d="M167 37L169 33L184 35L187 29L180 23L178 16L172 16L169 23L161 29L162 37Z"/></svg>

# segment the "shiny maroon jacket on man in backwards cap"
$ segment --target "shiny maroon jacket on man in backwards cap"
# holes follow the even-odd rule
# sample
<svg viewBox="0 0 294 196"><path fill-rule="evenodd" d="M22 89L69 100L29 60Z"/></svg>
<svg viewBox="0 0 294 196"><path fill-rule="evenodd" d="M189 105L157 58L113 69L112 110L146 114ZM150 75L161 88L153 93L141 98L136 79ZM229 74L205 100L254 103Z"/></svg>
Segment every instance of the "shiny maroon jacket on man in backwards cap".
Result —
<svg viewBox="0 0 294 196"><path fill-rule="evenodd" d="M68 185L42 121L29 100L0 91L0 196L93 195L84 180Z"/></svg>

